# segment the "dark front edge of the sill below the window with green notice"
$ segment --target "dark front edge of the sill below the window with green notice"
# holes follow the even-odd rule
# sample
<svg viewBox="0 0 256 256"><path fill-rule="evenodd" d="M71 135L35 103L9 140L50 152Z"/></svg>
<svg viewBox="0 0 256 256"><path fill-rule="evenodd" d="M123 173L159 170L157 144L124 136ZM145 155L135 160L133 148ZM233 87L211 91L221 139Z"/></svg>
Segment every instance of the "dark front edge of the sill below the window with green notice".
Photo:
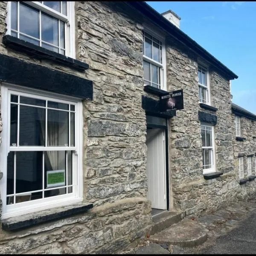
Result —
<svg viewBox="0 0 256 256"><path fill-rule="evenodd" d="M39 217L36 217L36 214L35 214L35 217L33 215L33 218L25 219L22 221L17 221L16 218L15 218L16 221L12 221L12 218L8 218L6 220L2 220L2 229L8 230L8 231L19 230L21 228L35 226L37 224L42 224L48 221L56 221L62 218L70 217L72 215L86 212L91 208L93 208L93 204L87 204L84 206L74 207L71 209L66 209L66 210L64 209L62 211L50 213L50 214L39 216Z"/></svg>

